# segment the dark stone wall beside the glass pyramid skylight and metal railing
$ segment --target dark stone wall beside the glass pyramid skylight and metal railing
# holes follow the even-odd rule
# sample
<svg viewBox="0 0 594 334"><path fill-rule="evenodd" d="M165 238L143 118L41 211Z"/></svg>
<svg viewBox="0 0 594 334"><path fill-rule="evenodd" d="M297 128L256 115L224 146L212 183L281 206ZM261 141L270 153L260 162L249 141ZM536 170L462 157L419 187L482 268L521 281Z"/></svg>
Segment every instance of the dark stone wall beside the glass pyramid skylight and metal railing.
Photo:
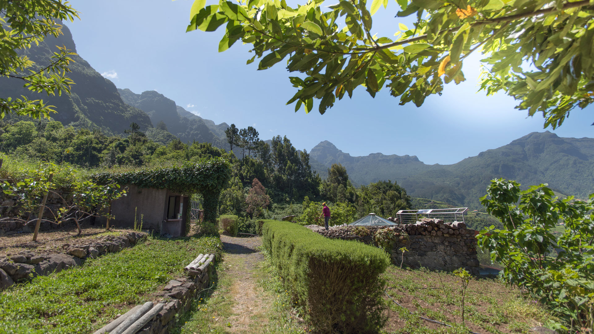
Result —
<svg viewBox="0 0 594 334"><path fill-rule="evenodd" d="M381 226L361 228L355 226L335 226L328 231L317 225L305 226L328 238L374 243L374 235L379 229L390 229L395 235L390 256L394 264L407 267L425 267L430 270L451 272L460 267L478 275L479 260L476 257L476 238L473 229L467 229L463 222L444 223L439 219L424 218L414 224L393 227ZM365 230L364 230L365 229ZM368 235L366 234L368 232ZM406 247L404 258L400 248Z"/></svg>

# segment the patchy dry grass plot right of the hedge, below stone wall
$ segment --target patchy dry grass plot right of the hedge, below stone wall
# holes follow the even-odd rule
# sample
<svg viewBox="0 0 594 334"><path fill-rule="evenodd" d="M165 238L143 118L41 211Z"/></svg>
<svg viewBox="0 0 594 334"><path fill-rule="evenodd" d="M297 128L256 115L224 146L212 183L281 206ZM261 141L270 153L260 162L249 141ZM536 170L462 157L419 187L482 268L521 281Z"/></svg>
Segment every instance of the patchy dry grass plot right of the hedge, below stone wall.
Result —
<svg viewBox="0 0 594 334"><path fill-rule="evenodd" d="M390 266L384 277L388 294L403 307L387 298L387 326L383 333L530 333L529 328L555 320L535 301L525 300L520 291L496 279L471 279L466 291L465 318L462 324L460 279L451 273L399 269ZM414 314L410 314L413 311ZM450 324L447 327L422 320L419 316Z"/></svg>

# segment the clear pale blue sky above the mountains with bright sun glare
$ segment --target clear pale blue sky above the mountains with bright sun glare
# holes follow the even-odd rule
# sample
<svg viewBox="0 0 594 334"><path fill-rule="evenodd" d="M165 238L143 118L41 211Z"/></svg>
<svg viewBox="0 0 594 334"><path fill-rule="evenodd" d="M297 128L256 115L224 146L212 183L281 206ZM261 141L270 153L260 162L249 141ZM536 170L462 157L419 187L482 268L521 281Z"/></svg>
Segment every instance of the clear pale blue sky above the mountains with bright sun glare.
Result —
<svg viewBox="0 0 594 334"><path fill-rule="evenodd" d="M255 127L260 138L287 136L297 149L328 140L352 156L370 153L416 155L433 164L456 163L510 143L534 131L560 137L594 137L592 107L575 109L557 130L544 129L542 115L514 109L504 94L477 93L480 55L464 63L466 81L447 84L417 108L400 106L387 89L375 98L362 87L320 115L317 108L285 105L295 94L289 72L279 62L257 71L257 61L240 42L219 53L224 26L214 32L185 30L193 0L71 0L80 20L67 22L77 52L121 89L156 90L194 114L239 128ZM329 1L328 5L336 1ZM214 0L207 0L214 4ZM369 2L371 4L371 1ZM325 3L326 4L326 3ZM289 3L289 5L291 5ZM391 37L397 23L395 2L374 15L372 33Z"/></svg>

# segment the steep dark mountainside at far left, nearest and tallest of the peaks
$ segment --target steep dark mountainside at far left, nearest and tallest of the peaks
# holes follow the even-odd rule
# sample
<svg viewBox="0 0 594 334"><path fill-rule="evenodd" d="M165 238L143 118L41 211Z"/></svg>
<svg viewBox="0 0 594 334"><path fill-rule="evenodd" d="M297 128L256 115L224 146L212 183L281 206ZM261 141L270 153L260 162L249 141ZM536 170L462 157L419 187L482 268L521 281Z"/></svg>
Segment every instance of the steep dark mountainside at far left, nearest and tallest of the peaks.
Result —
<svg viewBox="0 0 594 334"><path fill-rule="evenodd" d="M64 26L62 32L64 33L62 36L48 37L38 46L32 46L25 54L36 62L38 67L44 67L49 64L53 52L58 50L56 45L65 45L72 51L76 51L76 45L68 27ZM122 133L131 122L140 125L141 130L152 127L149 116L122 101L111 81L103 78L80 56L72 56L72 59L74 62L70 65L72 73L69 77L76 84L72 86L71 95L48 96L45 93L32 93L23 88L22 81L11 78L0 78L0 95L2 97L24 95L29 99L43 99L56 107L54 109L58 114L53 114L52 118L64 125L99 127L108 133Z"/></svg>

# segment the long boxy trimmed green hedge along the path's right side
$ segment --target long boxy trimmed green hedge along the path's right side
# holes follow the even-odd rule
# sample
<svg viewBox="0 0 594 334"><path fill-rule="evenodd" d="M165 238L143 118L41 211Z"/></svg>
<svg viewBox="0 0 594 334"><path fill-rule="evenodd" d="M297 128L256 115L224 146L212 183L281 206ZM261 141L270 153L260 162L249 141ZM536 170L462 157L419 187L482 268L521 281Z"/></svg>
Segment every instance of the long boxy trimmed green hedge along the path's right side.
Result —
<svg viewBox="0 0 594 334"><path fill-rule="evenodd" d="M264 223L263 245L307 319L321 333L377 333L386 323L386 252L331 240L290 222Z"/></svg>

